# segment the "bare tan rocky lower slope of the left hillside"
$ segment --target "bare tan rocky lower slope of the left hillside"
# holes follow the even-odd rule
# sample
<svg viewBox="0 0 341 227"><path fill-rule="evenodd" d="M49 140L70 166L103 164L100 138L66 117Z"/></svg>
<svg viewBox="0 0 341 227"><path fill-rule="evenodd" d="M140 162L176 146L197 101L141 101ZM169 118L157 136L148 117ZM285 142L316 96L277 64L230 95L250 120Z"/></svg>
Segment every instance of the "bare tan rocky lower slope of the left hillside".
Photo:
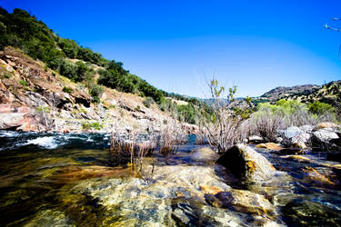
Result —
<svg viewBox="0 0 341 227"><path fill-rule="evenodd" d="M13 47L0 52L0 129L111 132L157 129L167 114L144 97L105 88L92 103L88 88L46 69Z"/></svg>

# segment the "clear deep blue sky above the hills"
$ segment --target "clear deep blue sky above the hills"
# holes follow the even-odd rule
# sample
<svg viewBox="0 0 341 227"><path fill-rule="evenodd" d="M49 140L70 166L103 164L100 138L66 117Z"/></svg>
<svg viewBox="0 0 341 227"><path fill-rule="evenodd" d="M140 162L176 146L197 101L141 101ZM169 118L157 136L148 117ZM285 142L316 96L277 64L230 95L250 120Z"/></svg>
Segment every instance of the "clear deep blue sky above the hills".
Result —
<svg viewBox="0 0 341 227"><path fill-rule="evenodd" d="M212 73L237 95L341 79L341 1L0 0L31 12L168 92L203 96Z"/></svg>

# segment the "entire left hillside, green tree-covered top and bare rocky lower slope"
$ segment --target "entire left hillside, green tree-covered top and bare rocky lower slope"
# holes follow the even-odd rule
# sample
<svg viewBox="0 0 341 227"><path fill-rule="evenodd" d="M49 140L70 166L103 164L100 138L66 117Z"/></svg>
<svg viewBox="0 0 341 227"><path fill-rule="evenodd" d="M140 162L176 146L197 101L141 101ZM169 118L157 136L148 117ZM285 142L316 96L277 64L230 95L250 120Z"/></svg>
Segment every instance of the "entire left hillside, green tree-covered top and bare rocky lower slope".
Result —
<svg viewBox="0 0 341 227"><path fill-rule="evenodd" d="M179 120L196 123L195 98L155 88L123 63L56 35L25 10L10 14L0 7L0 51L0 113L9 114L0 128L109 131L117 123L145 128L174 110ZM11 120L17 123L9 123L11 113L18 114L19 120Z"/></svg>

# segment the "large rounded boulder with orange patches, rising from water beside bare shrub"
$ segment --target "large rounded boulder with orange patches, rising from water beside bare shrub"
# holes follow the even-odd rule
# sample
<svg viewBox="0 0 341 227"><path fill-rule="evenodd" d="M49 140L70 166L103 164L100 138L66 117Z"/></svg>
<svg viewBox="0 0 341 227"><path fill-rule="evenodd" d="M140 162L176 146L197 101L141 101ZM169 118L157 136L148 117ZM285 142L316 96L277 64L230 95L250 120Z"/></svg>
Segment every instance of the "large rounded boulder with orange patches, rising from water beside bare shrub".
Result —
<svg viewBox="0 0 341 227"><path fill-rule="evenodd" d="M216 163L224 165L228 172L248 182L266 181L276 173L266 157L244 144L227 150Z"/></svg>

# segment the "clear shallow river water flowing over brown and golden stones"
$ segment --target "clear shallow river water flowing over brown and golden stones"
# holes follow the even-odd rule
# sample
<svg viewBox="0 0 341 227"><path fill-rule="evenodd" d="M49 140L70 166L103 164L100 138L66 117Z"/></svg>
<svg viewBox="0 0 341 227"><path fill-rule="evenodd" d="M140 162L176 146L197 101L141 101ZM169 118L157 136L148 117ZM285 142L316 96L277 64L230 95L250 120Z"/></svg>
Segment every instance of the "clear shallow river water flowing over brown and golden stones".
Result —
<svg viewBox="0 0 341 227"><path fill-rule="evenodd" d="M339 163L256 149L276 176L245 184L194 143L111 167L109 134L0 132L1 226L340 226ZM318 174L320 173L320 174Z"/></svg>

